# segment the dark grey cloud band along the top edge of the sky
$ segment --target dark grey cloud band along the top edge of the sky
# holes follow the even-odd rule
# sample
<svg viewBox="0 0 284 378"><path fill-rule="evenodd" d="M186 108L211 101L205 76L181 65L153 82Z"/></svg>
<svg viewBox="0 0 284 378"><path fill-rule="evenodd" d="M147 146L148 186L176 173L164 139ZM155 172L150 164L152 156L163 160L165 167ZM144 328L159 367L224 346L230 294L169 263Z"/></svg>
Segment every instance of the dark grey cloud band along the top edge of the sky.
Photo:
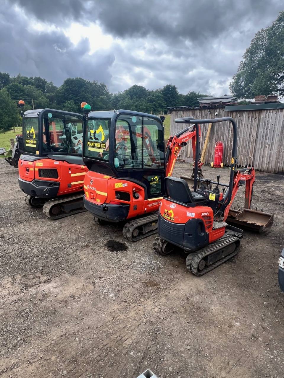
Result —
<svg viewBox="0 0 284 378"><path fill-rule="evenodd" d="M250 25L267 26L283 9L282 0L10 0L49 23L99 21L119 37L214 39Z"/></svg>

